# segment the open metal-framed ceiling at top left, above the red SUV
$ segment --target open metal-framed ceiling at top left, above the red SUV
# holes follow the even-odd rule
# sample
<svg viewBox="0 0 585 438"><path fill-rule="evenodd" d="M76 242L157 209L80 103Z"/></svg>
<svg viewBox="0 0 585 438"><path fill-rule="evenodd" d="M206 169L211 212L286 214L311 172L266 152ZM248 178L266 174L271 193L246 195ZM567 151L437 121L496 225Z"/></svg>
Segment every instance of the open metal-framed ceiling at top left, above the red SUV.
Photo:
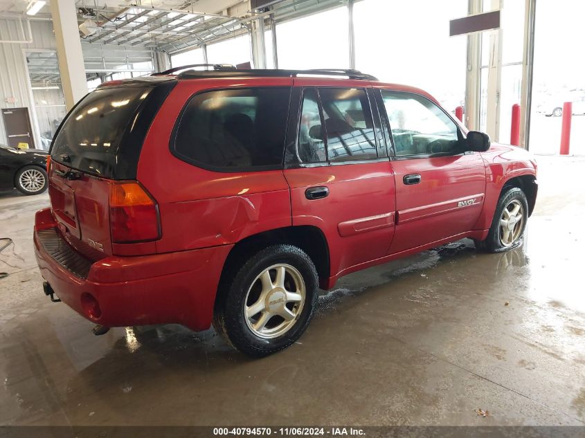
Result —
<svg viewBox="0 0 585 438"><path fill-rule="evenodd" d="M213 44L248 33L252 21L273 17L275 23L296 19L347 4L347 0L276 0L268 10L249 10L247 0L77 0L78 8L93 10L78 15L81 24L95 21L96 33L82 37L84 44L116 44L177 53L203 44ZM16 13L26 8L25 0L0 0L0 12ZM206 5L215 13L198 12ZM50 19L44 8L36 19ZM26 17L26 16L25 16Z"/></svg>

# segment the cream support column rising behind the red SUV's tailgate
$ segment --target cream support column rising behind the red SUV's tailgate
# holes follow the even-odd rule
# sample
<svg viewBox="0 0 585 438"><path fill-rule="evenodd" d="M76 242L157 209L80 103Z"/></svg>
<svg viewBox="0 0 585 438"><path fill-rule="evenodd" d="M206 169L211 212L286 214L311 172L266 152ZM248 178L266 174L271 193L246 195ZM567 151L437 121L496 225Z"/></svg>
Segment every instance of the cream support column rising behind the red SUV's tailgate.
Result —
<svg viewBox="0 0 585 438"><path fill-rule="evenodd" d="M51 0L51 16L67 110L87 94L87 80L79 37L77 9L71 0Z"/></svg>

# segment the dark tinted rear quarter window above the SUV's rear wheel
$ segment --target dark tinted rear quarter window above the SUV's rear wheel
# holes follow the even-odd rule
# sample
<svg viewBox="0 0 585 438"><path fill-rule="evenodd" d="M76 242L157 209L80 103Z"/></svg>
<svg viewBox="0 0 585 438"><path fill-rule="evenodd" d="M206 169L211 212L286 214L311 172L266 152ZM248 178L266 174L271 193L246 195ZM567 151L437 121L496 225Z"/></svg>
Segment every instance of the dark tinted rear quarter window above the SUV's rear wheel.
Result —
<svg viewBox="0 0 585 438"><path fill-rule="evenodd" d="M201 167L280 166L290 89L234 89L195 95L177 127L174 152Z"/></svg>

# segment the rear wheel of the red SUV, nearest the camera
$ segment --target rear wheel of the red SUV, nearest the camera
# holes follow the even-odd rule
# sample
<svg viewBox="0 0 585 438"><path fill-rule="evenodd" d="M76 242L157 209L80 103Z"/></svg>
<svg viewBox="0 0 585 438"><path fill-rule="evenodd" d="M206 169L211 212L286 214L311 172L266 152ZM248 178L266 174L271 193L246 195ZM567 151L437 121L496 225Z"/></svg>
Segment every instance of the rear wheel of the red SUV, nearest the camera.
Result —
<svg viewBox="0 0 585 438"><path fill-rule="evenodd" d="M233 275L235 273L235 275ZM274 245L228 270L219 286L213 326L253 357L289 347L303 334L318 298L315 265L300 248Z"/></svg>

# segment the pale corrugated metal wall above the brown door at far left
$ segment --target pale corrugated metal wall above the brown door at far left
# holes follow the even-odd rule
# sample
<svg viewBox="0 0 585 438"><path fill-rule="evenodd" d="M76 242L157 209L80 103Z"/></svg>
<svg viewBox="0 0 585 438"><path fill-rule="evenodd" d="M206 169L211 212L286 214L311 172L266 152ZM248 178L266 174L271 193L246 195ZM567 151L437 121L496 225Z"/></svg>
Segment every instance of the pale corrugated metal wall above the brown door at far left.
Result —
<svg viewBox="0 0 585 438"><path fill-rule="evenodd" d="M14 19L0 19L0 40L28 39L26 25L23 24L23 26L26 36L23 36L21 33L19 21ZM0 44L0 108L27 107L29 116L32 118L33 114L30 109L28 77L26 77L23 49L55 49L56 46L51 21L31 21L30 29L33 33L32 43ZM6 102L8 98L15 98L16 102L8 103ZM8 143L1 117L0 143Z"/></svg>

